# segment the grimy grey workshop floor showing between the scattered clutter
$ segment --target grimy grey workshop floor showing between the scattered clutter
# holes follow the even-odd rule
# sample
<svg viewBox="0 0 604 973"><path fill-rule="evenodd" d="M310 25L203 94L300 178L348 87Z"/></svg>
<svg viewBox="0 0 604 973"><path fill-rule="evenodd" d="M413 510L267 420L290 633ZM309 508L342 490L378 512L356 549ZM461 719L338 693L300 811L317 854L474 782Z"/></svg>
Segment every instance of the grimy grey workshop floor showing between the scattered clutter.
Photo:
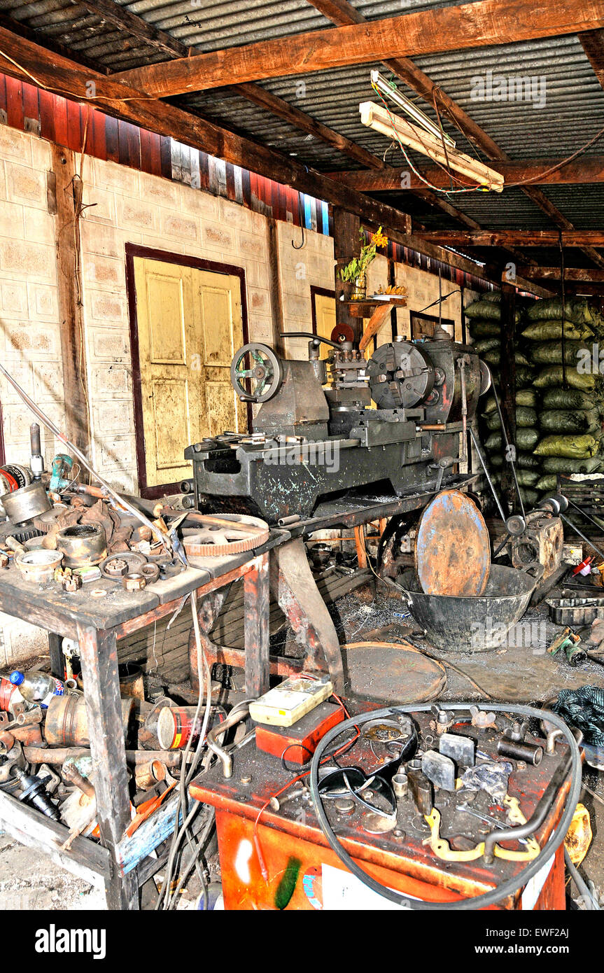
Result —
<svg viewBox="0 0 604 973"><path fill-rule="evenodd" d="M545 605L530 608L500 648L473 655L440 652L420 637L400 598L390 592L375 592L372 585L339 598L330 610L342 644L362 642L368 632L372 641L393 643L390 648L359 647L346 652L353 696L410 702L419 698L431 682L444 681L442 667L435 667L423 655L416 657L395 648L402 642L409 642L443 663L443 700L487 703L486 693L499 702L539 704L551 700L561 689L586 684L604 687L604 666L588 661L573 668L564 656L551 657L546 653L547 645L561 630L549 620ZM274 641L281 643L288 655L302 654L292 631L280 634ZM273 651L275 647L272 646ZM582 801L590 814L593 840L581 871L588 882L594 883L604 904L604 776L586 766L584 784L588 790ZM179 902L179 910L195 909L199 890L194 878ZM574 887L571 892L576 898ZM155 894L153 883L147 883L143 908L153 909ZM0 910L102 908L102 891L74 878L48 859L41 861L37 852L19 846L9 836L0 835Z"/></svg>

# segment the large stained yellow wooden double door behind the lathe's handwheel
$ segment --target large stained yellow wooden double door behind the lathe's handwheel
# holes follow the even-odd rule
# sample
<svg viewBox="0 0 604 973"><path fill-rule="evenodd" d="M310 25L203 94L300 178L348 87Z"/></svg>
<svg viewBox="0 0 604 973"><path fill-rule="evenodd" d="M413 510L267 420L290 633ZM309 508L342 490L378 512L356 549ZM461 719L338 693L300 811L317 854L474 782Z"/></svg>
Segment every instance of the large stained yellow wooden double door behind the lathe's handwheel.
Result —
<svg viewBox="0 0 604 973"><path fill-rule="evenodd" d="M147 486L191 475L185 447L246 429L231 387L243 344L237 276L134 258Z"/></svg>

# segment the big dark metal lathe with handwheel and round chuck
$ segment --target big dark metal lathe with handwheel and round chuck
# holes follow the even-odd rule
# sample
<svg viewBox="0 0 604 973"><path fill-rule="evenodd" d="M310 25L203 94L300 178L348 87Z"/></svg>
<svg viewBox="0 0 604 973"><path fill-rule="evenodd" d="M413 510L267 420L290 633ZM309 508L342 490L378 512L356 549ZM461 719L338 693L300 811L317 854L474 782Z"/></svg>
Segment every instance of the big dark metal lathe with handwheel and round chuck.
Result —
<svg viewBox="0 0 604 973"><path fill-rule="evenodd" d="M462 434L477 410L480 361L472 347L392 342L368 362L351 342L295 334L309 339L308 361L282 360L281 373L267 345L235 354L233 387L260 409L251 434L185 450L194 477L183 488L195 493L195 507L276 523L293 514L305 520L345 490L374 486L404 496L419 485L440 488L445 471L465 459ZM327 359L319 357L321 343L330 346ZM253 367L241 367L246 356ZM262 376L253 374L258 368ZM245 384L252 380L254 391Z"/></svg>

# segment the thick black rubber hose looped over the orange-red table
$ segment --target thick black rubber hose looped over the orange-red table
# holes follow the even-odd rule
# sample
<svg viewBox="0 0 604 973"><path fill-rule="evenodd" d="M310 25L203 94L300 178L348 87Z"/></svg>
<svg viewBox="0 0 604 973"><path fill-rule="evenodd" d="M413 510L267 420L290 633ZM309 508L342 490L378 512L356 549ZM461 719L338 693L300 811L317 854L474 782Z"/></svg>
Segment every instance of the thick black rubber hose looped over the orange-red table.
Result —
<svg viewBox="0 0 604 973"><path fill-rule="evenodd" d="M442 703L441 705L443 709L457 711L460 709L468 710L471 705L476 705L476 702ZM532 716L537 720L547 719L549 722L551 722L562 732L562 735L565 737L570 746L572 779L566 806L558 822L558 826L553 830L549 841L541 849L539 854L533 858L533 860L529 862L526 867L523 868L517 876L515 876L515 878L508 879L507 882L502 883L497 888L494 888L491 892L485 892L483 895L477 895L474 898L461 899L458 902L422 902L418 899L409 899L408 896L403 895L400 892L396 892L393 889L388 888L386 885L376 882L370 875L367 874L367 872L364 872L363 869L357 865L345 848L340 844L338 837L328 820L323 803L319 796L318 785L321 758L330 743L336 739L340 733L343 733L344 730L347 730L351 726L360 726L370 719L384 719L396 713L429 712L431 709L430 703L411 706L388 706L384 709L373 710L373 712L363 714L361 716L354 716L351 719L344 720L343 723L338 723L338 726L334 727L325 735L314 752L312 763L310 765L310 793L312 795L314 808L319 819L319 824L321 825L323 834L327 838L329 846L333 851L336 852L339 860L349 872L352 872L357 879L371 888L373 892L383 896L383 898L388 899L390 902L394 902L396 905L403 906L408 909L418 909L429 912L434 912L436 910L451 910L454 912L460 912L474 909L484 909L487 906L500 902L508 895L514 894L519 888L525 885L529 879L532 879L532 877L537 874L544 862L551 857L553 852L564 841L564 836L566 835L566 832L570 826L570 822L575 812L575 808L577 807L579 795L581 793L581 755L577 745L577 740L573 737L573 734L567 727L566 723L560 719L557 713L553 713L551 710L546 712L543 709L534 709L532 706L511 705L510 703L491 703L490 701L488 703L488 708L499 713L514 713L518 716Z"/></svg>

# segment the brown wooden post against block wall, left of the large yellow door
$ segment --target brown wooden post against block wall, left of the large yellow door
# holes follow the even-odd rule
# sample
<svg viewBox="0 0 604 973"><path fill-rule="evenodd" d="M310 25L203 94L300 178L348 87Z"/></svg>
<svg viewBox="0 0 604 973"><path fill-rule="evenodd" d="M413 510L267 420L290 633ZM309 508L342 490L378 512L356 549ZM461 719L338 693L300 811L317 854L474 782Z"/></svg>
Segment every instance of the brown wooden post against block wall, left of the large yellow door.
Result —
<svg viewBox="0 0 604 973"><path fill-rule="evenodd" d="M89 456L90 419L80 272L82 182L76 173L73 152L51 143L51 153L65 432L74 446ZM86 477L86 471L82 473Z"/></svg>

